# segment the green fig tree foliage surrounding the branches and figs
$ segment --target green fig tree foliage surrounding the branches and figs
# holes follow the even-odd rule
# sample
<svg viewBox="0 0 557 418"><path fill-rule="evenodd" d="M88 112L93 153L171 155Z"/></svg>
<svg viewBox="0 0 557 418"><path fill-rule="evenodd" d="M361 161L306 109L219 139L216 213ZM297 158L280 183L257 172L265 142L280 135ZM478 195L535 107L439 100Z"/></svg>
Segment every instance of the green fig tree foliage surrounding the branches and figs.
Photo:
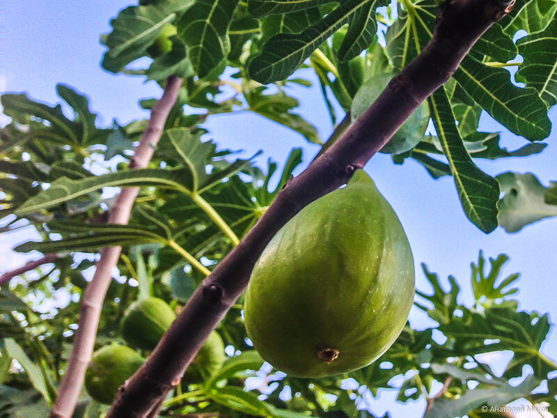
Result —
<svg viewBox="0 0 557 418"><path fill-rule="evenodd" d="M102 36L103 68L162 86L171 75L184 79L148 168L129 167L146 121L101 126L86 96L63 84L56 86L61 104L24 93L1 97L11 122L0 130L0 234L33 226L40 241L23 242L16 250L38 250L56 259L0 291L0 418L48 415L95 265L93 254L101 247L121 245L123 255L102 304L97 349L123 342L120 321L138 299L159 297L178 311L303 161L295 148L281 171L271 160L258 167L256 159L239 158L208 140L207 119L250 111L321 145L317 128L297 113L308 79L319 84L337 125L343 112L366 109L374 100L361 98L370 80L386 80L423 50L437 15L434 0L390 6L383 0L139 3L121 10L111 32ZM433 178L453 176L466 216L486 232L498 225L516 232L557 215L554 182L546 187L531 173L492 177L480 169L483 160L526 157L547 147L540 141L549 135L547 113L557 97L556 11L551 0L517 0L511 15L480 38L455 76L423 104L427 112L403 132L413 137L411 146L393 153L395 163L415 160ZM168 24L178 28L169 39L171 49L138 61L145 68L130 69L149 56ZM527 34L515 42L519 30ZM507 70L514 68L524 86L513 84ZM152 109L154 103L142 100L141 106ZM522 137L523 144L508 149L499 133L480 132L483 111ZM424 134L429 121L432 129ZM280 141L280 134L276 138ZM106 224L111 187L131 186L140 191L130 223ZM556 412L557 366L542 352L549 316L519 310L512 299L518 274L501 274L507 262L505 255L490 258L487 272L480 253L470 283L449 277L448 290L423 265L432 291L418 289L415 304L431 327L416 330L407 324L377 362L328 378L304 380L262 366L246 339L240 300L217 330L227 347L226 362L203 382L180 385L163 413L370 418L362 410L363 396L378 396L380 389L397 392L402 403L430 399L427 417L487 417L478 409L482 405L517 398L547 402ZM465 288L473 294L471 304L462 301ZM501 351L512 357L496 375L485 356ZM532 374L526 377L528 370ZM347 382L352 389L346 389ZM434 398L446 382L446 392ZM533 391L545 384L547 392ZM292 398L285 396L289 391ZM75 417L104 412L106 407L84 392Z"/></svg>

